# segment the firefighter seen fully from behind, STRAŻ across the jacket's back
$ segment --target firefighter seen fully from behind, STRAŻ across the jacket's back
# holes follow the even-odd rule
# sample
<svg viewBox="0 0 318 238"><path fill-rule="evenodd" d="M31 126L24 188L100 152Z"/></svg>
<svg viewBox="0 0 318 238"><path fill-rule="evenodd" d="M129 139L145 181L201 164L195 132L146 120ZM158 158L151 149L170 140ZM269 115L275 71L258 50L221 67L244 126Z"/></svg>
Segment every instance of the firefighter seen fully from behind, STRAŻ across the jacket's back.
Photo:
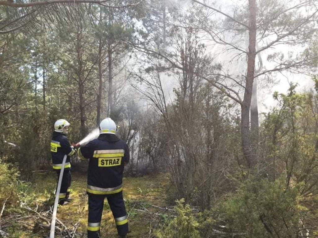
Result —
<svg viewBox="0 0 318 238"><path fill-rule="evenodd" d="M112 210L118 235L128 233L128 219L122 196L124 165L129 162L126 142L116 136L117 126L111 118L100 123L97 139L79 148L79 157L89 159L87 175L88 224L87 237L100 237L100 221L104 199Z"/></svg>

